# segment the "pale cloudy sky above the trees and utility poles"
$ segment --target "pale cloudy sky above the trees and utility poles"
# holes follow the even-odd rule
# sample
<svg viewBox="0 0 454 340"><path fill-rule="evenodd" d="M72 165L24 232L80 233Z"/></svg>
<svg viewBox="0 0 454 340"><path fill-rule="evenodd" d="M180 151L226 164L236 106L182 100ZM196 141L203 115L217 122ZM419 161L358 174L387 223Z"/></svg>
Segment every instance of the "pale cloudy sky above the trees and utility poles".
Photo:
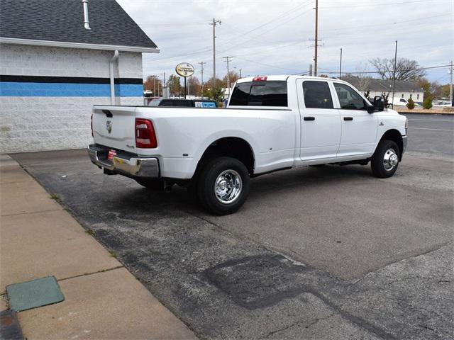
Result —
<svg viewBox="0 0 454 340"><path fill-rule="evenodd" d="M213 18L216 75L230 69L242 76L301 74L314 59L315 0L117 0L160 49L143 55L143 76L175 73L179 62L194 76L213 75ZM319 0L319 75L374 71L369 60L397 57L421 67L454 59L454 0ZM427 69L430 81L448 84L448 67ZM332 74L337 76L338 74Z"/></svg>

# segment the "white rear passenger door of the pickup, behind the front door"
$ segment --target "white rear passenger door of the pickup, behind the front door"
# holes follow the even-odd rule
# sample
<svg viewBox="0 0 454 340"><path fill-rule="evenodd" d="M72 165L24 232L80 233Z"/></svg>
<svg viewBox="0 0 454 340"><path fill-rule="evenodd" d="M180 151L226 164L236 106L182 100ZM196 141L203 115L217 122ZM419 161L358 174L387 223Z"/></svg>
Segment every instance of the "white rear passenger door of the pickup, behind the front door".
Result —
<svg viewBox="0 0 454 340"><path fill-rule="evenodd" d="M329 82L298 79L297 94L301 115L301 160L336 158L341 142L341 116L334 108Z"/></svg>

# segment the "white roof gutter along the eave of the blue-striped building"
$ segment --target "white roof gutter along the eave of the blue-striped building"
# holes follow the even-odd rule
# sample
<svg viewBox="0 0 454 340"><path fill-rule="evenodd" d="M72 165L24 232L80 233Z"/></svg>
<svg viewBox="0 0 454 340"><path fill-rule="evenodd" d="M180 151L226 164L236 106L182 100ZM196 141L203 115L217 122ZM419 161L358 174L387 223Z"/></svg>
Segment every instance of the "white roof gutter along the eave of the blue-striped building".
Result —
<svg viewBox="0 0 454 340"><path fill-rule="evenodd" d="M4 38L4 37L0 37L0 42L4 43L4 44L16 44L16 45L84 48L87 50L108 50L108 51L118 50L118 51L124 51L124 52L140 52L140 53L159 53L160 52L160 50L158 48L153 48L153 47L99 45L99 44L87 44L84 42L33 40L33 39Z"/></svg>

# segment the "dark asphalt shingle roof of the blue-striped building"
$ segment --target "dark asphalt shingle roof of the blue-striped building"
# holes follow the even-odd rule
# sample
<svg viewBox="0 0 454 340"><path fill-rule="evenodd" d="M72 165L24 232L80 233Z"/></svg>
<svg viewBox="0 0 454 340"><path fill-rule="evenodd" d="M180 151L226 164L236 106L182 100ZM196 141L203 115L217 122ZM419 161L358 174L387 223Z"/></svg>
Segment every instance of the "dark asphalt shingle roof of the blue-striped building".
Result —
<svg viewBox="0 0 454 340"><path fill-rule="evenodd" d="M156 48L115 0L0 0L0 37Z"/></svg>

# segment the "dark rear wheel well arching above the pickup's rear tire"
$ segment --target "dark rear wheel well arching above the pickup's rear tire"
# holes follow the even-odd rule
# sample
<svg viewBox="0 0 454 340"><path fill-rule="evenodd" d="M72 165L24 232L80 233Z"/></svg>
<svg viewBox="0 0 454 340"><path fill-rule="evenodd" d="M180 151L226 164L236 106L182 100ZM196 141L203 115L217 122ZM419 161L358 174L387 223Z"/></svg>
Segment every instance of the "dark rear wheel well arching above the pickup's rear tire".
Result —
<svg viewBox="0 0 454 340"><path fill-rule="evenodd" d="M250 175L254 173L254 154L249 143L238 137L225 137L211 145L205 150L199 163L197 164L196 173L201 166L209 159L214 157L233 157L242 162L249 171Z"/></svg>

